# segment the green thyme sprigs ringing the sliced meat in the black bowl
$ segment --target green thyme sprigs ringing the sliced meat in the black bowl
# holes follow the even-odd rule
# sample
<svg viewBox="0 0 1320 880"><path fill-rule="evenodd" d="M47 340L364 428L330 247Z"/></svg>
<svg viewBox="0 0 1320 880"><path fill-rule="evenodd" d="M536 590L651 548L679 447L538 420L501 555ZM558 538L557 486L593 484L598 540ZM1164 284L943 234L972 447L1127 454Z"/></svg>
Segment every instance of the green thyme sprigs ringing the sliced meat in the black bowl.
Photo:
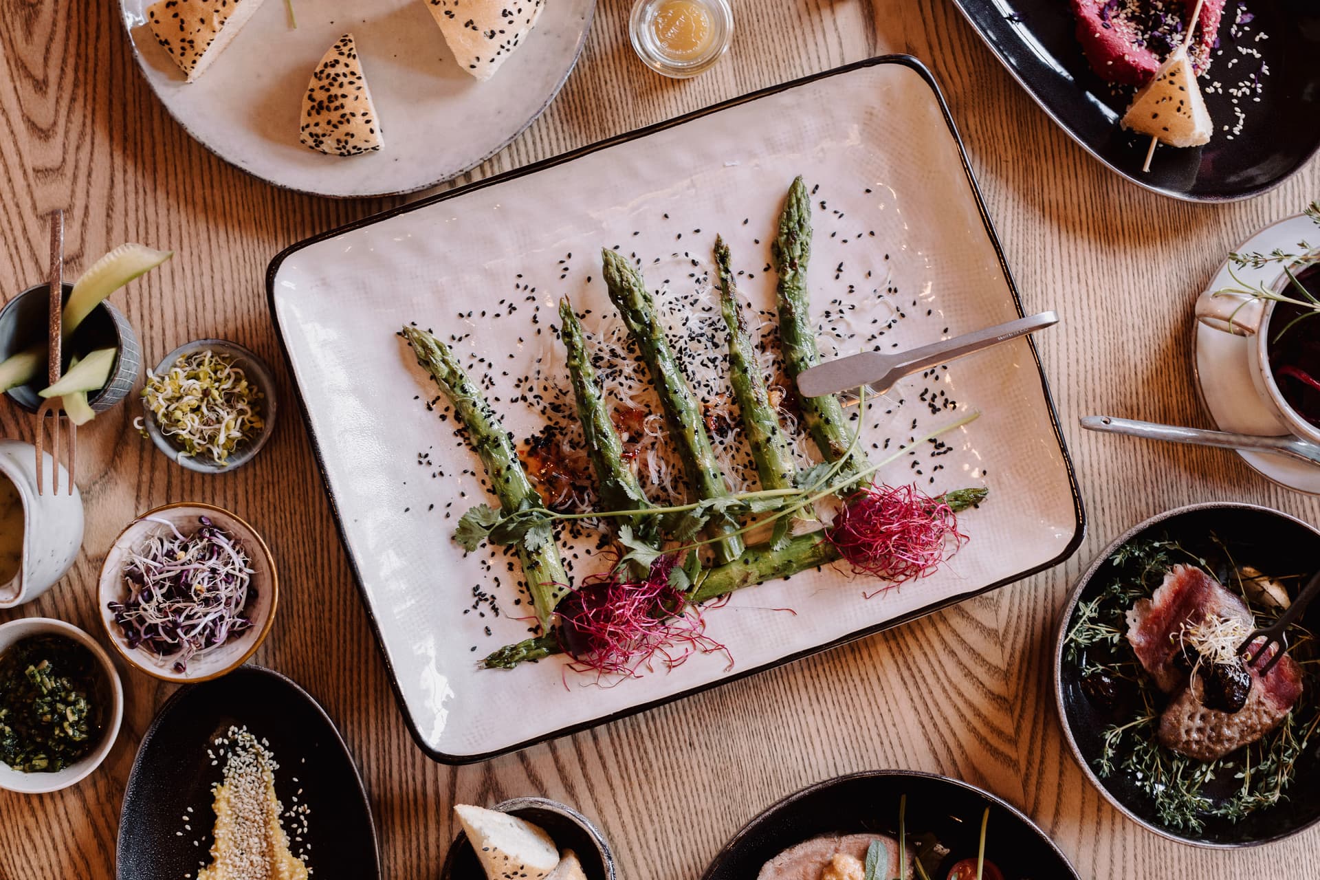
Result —
<svg viewBox="0 0 1320 880"><path fill-rule="evenodd" d="M1276 619L1282 610L1263 606L1247 595L1245 579L1226 544L1214 534L1209 540L1222 554L1232 584L1253 613L1265 620ZM1101 732L1101 751L1093 761L1096 773L1101 778L1122 773L1151 800L1163 825L1197 834L1208 819L1237 822L1286 801L1287 786L1296 776L1296 763L1315 743L1320 712L1312 689L1307 687L1272 732L1217 761L1197 761L1159 743L1164 697L1126 646L1126 612L1134 602L1150 596L1164 573L1179 562L1209 570L1205 558L1167 537L1130 541L1119 548L1109 558L1114 571L1110 582L1094 599L1077 604L1065 636L1064 656L1084 678L1096 673L1127 678L1135 682L1139 695L1139 706L1130 718ZM1313 641L1315 636L1308 629L1296 627L1290 633L1288 652L1308 652L1311 648L1305 645ZM1097 649L1105 654L1102 661L1092 656ZM1218 790L1220 785L1208 790L1216 780L1221 785L1236 780L1238 785L1226 794Z"/></svg>

